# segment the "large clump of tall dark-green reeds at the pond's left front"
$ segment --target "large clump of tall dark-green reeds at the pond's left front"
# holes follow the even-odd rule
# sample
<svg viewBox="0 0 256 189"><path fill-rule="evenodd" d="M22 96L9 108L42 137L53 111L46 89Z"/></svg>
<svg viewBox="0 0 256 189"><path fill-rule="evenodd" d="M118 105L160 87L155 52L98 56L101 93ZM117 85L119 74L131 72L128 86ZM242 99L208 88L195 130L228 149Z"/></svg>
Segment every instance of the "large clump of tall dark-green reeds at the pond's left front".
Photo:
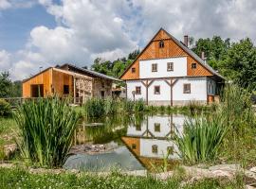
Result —
<svg viewBox="0 0 256 189"><path fill-rule="evenodd" d="M27 101L14 113L21 155L41 166L62 166L72 145L77 113L57 97Z"/></svg>

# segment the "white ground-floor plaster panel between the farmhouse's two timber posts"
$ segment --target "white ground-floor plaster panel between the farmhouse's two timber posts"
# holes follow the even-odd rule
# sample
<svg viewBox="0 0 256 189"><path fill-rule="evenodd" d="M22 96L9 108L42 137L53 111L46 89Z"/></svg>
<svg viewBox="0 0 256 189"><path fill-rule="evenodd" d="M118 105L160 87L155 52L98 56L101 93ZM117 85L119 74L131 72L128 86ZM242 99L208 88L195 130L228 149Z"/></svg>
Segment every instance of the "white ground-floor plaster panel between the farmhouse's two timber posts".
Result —
<svg viewBox="0 0 256 189"><path fill-rule="evenodd" d="M170 79L169 79L170 80ZM155 94L155 86L160 86L160 94ZM155 80L148 89L149 101L155 100L171 100L170 86L163 80Z"/></svg>

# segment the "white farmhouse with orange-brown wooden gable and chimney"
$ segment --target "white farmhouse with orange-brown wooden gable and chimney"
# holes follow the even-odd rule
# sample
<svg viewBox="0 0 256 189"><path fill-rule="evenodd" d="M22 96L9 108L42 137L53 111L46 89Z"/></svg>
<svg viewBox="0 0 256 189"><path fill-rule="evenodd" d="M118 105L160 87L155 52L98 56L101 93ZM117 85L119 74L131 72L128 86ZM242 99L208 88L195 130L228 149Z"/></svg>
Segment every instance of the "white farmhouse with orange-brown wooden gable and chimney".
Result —
<svg viewBox="0 0 256 189"><path fill-rule="evenodd" d="M128 99L171 106L212 102L225 80L188 48L188 36L181 43L162 28L120 78Z"/></svg>

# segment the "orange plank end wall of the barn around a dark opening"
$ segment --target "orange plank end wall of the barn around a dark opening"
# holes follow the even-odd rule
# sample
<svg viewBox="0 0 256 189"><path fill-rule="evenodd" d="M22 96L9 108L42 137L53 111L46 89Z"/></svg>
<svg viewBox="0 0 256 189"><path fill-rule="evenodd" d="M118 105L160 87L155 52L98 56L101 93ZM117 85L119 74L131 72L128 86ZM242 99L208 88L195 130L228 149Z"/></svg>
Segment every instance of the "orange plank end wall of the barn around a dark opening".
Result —
<svg viewBox="0 0 256 189"><path fill-rule="evenodd" d="M52 69L49 68L45 72L28 79L23 83L23 97L31 97L31 84L39 85L44 84L44 96L50 93L50 85L51 85L51 73Z"/></svg>

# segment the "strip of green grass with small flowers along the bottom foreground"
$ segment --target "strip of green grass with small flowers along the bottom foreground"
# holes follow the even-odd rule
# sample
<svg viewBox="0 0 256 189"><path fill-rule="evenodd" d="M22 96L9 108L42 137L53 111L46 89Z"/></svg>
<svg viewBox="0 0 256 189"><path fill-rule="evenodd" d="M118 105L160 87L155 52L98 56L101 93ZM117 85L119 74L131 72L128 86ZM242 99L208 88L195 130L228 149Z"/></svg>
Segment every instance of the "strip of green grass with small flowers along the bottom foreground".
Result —
<svg viewBox="0 0 256 189"><path fill-rule="evenodd" d="M0 188L87 188L87 189L208 189L208 188L244 188L243 181L239 178L230 180L200 180L193 183L182 182L180 176L169 180L156 180L154 177L134 177L123 176L118 172L113 172L110 176L100 177L81 173L75 175L71 173L63 174L30 174L24 169L0 168Z"/></svg>

